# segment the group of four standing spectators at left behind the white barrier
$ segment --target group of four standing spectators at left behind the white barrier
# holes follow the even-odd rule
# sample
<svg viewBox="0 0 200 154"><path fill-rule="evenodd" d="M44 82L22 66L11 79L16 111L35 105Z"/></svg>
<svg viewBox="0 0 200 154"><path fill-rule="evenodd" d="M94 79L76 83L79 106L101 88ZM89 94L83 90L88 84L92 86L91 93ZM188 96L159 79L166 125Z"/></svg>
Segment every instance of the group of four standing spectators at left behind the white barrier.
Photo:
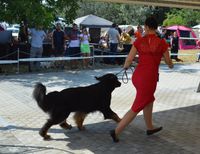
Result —
<svg viewBox="0 0 200 154"><path fill-rule="evenodd" d="M51 56L62 57L79 57L90 56L90 34L86 28L82 28L81 31L78 29L76 24L73 24L72 29L69 32L65 32L62 29L61 23L57 23L55 29L50 33L46 34L40 26L36 26L29 30L29 35L31 36L31 52L30 58L41 58L43 52L43 41L47 38L51 38ZM68 44L66 44L66 40ZM61 63L59 63L62 65ZM83 67L90 67L89 59L83 59ZM77 68L77 60L71 61L71 68ZM39 69L39 62L33 61L30 65L30 71Z"/></svg>

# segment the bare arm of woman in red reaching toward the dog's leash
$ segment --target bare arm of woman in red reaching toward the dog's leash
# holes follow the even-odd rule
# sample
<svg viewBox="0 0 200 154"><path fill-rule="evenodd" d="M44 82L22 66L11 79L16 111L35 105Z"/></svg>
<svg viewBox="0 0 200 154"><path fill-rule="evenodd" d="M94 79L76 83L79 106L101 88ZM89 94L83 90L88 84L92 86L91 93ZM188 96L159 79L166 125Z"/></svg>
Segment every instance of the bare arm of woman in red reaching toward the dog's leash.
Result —
<svg viewBox="0 0 200 154"><path fill-rule="evenodd" d="M132 45L131 50L126 57L125 63L124 63L124 69L128 69L129 66L132 64L133 59L135 58L137 54L137 49L135 48L134 45Z"/></svg>

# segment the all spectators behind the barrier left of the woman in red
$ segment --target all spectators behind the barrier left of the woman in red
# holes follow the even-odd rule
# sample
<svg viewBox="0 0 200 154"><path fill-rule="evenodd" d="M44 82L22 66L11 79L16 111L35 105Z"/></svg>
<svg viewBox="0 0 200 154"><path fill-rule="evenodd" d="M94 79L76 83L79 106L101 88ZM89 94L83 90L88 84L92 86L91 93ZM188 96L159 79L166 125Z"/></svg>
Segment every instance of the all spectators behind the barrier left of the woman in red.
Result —
<svg viewBox="0 0 200 154"><path fill-rule="evenodd" d="M134 29L130 29L128 32L122 31L117 24L113 24L108 30L106 36L102 36L99 41L99 48L109 48L106 54L115 55L119 51L123 50L123 53L128 54L131 49L132 43L136 37L142 37L142 27L138 26L138 30L134 32ZM26 32L27 29L24 29ZM90 67L90 59L87 58L91 55L90 49L90 34L87 28L83 27L81 30L78 29L76 24L73 24L72 29L64 31L61 23L57 23L55 29L50 34L45 34L41 26L28 30L28 35L31 36L31 52L30 58L41 58L43 52L42 42L47 38L51 38L51 56L54 57L80 57L83 56L83 67ZM129 37L129 38L128 38ZM128 39L130 39L128 41ZM66 43L66 41L68 43ZM121 48L120 48L121 47ZM77 60L71 60L70 66L72 69L78 67ZM107 58L105 63L119 64L119 58ZM30 63L30 71L39 69L39 62L33 61Z"/></svg>

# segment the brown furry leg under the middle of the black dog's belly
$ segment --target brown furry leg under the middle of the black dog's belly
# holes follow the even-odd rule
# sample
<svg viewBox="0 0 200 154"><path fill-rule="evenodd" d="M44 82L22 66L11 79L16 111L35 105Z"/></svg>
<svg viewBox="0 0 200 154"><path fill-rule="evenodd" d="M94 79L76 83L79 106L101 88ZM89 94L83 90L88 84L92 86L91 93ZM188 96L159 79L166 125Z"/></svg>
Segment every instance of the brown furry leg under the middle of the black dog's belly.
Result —
<svg viewBox="0 0 200 154"><path fill-rule="evenodd" d="M84 112L76 112L74 114L74 120L75 120L79 130L85 130L85 127L83 126L83 121L86 116L87 116L87 114Z"/></svg>

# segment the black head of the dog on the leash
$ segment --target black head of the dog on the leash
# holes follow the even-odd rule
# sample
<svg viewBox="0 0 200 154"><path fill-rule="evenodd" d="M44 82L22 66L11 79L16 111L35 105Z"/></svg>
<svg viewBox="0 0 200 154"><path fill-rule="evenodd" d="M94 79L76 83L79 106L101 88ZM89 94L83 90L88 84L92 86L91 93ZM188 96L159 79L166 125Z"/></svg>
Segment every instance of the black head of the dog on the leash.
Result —
<svg viewBox="0 0 200 154"><path fill-rule="evenodd" d="M121 82L119 82L117 76L112 73L108 73L101 77L95 77L95 78L100 82L104 82L107 85L110 85L111 88L113 89L121 86Z"/></svg>

